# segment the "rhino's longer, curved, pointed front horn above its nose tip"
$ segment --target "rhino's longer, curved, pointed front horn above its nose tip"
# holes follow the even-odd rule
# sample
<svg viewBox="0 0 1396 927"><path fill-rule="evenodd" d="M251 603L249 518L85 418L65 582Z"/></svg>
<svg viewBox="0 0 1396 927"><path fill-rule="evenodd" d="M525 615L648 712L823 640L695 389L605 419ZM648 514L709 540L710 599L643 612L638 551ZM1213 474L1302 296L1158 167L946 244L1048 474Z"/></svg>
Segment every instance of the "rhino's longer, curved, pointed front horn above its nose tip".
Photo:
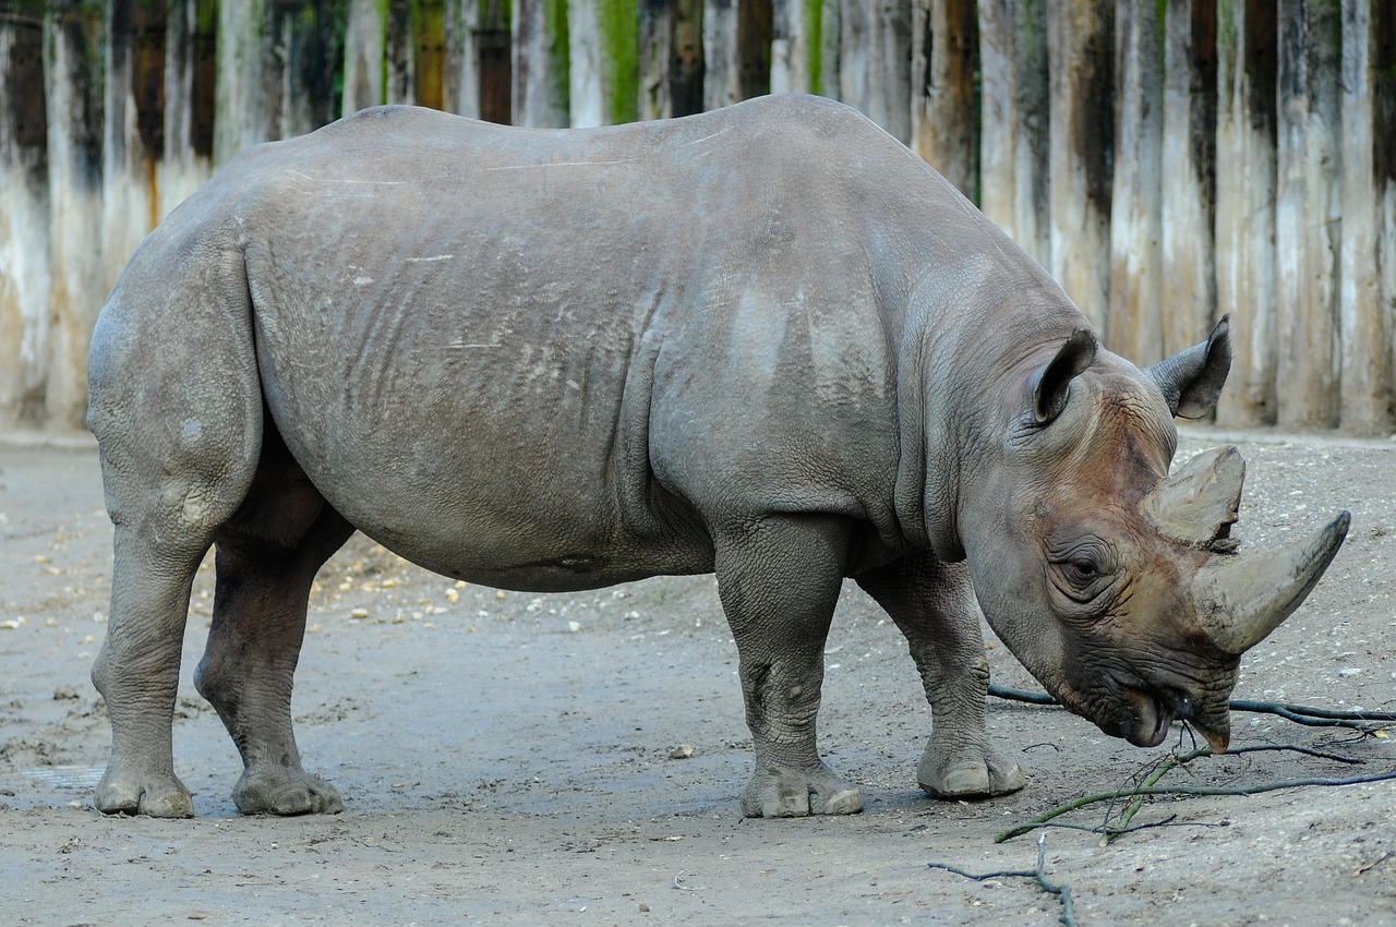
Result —
<svg viewBox="0 0 1396 927"><path fill-rule="evenodd" d="M1268 554L1213 557L1194 581L1202 628L1223 653L1240 656L1308 596L1347 537L1346 511L1312 537Z"/></svg>

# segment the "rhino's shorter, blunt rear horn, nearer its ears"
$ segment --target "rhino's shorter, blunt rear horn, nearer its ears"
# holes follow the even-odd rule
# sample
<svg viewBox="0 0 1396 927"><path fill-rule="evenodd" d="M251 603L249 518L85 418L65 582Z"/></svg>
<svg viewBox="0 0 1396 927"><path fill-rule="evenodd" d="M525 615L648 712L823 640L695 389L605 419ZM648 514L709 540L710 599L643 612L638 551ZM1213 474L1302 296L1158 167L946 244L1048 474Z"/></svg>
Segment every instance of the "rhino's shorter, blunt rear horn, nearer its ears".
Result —
<svg viewBox="0 0 1396 927"><path fill-rule="evenodd" d="M1237 519L1244 482L1245 459L1234 447L1198 454L1145 497L1143 515L1168 540L1220 550Z"/></svg>

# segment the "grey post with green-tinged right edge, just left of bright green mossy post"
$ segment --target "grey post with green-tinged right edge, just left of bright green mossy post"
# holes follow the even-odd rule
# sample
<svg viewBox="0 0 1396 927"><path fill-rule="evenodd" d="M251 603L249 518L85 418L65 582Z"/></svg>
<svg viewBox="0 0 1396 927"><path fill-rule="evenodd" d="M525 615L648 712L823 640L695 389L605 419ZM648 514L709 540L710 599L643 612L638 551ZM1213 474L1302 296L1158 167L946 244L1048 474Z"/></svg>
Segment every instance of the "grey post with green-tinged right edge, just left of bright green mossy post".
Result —
<svg viewBox="0 0 1396 927"><path fill-rule="evenodd" d="M568 123L567 0L514 0L514 123Z"/></svg>

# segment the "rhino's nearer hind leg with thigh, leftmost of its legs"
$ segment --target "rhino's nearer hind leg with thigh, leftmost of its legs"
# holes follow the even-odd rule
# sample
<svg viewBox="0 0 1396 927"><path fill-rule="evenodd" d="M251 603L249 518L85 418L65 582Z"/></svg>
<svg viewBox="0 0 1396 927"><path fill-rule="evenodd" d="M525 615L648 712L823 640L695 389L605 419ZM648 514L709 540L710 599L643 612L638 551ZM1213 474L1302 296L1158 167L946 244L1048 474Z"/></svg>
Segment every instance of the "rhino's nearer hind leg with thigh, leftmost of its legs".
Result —
<svg viewBox="0 0 1396 927"><path fill-rule="evenodd" d="M114 528L112 607L92 666L112 722L95 796L107 814L194 813L170 741L190 585L261 443L251 325L237 302L246 282L204 279L222 264L181 267L193 268L184 286L141 268L123 274L89 350L88 427Z"/></svg>

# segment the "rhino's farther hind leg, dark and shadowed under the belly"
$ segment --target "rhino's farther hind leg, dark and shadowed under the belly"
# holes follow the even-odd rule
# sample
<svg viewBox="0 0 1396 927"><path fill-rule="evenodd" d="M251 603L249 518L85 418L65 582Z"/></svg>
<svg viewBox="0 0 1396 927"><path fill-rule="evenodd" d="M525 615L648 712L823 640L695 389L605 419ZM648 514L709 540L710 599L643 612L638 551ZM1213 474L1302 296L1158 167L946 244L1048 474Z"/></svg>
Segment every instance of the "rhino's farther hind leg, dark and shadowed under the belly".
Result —
<svg viewBox="0 0 1396 927"><path fill-rule="evenodd" d="M216 535L214 621L194 673L242 754L243 814L343 810L334 786L302 768L290 694L315 571L352 533L268 427L251 491Z"/></svg>

